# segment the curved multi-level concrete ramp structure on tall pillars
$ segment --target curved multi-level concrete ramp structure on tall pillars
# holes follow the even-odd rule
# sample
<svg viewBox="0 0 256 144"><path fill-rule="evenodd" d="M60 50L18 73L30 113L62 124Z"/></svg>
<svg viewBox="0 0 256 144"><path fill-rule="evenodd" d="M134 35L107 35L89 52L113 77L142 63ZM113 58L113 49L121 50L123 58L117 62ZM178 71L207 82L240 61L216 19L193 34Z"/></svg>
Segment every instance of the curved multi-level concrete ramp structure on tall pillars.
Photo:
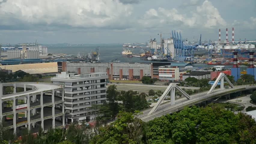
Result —
<svg viewBox="0 0 256 144"><path fill-rule="evenodd" d="M13 87L13 93L5 89ZM63 128L64 94L63 87L51 83L15 82L0 83L0 119L6 129L20 136L28 128L37 133L50 128ZM12 102L10 106L8 103Z"/></svg>

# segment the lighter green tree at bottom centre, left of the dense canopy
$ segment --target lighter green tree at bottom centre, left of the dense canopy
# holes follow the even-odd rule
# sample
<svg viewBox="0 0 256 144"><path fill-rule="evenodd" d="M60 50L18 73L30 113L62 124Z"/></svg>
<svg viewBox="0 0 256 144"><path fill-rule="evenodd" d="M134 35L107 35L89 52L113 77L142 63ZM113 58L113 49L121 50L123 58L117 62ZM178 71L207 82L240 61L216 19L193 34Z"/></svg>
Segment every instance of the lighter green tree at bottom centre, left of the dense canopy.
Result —
<svg viewBox="0 0 256 144"><path fill-rule="evenodd" d="M115 122L99 129L99 135L93 137L91 144L140 143L144 122L138 118L139 114L139 111L120 112Z"/></svg>

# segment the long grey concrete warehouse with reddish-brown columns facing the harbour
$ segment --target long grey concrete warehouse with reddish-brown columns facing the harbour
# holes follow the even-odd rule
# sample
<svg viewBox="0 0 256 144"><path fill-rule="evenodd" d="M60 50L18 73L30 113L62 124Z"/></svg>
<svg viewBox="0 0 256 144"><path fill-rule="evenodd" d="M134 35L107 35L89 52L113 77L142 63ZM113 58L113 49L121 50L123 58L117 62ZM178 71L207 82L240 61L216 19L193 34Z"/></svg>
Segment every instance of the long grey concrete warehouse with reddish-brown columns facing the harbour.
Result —
<svg viewBox="0 0 256 144"><path fill-rule="evenodd" d="M156 76L153 76L152 63L87 63L67 61L62 62L62 71L71 73L105 72L109 79L116 80L140 80L143 76L158 78L158 66Z"/></svg>

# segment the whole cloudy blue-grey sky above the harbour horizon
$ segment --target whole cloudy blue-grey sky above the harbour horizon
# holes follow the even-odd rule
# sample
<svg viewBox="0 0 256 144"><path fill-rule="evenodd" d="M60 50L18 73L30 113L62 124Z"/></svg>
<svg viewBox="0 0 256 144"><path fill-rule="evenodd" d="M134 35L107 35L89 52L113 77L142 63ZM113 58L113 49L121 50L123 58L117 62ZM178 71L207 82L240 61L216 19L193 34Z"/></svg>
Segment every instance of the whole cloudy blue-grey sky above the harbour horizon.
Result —
<svg viewBox="0 0 256 144"><path fill-rule="evenodd" d="M172 30L195 40L256 39L255 0L0 0L0 43L102 44L159 40Z"/></svg>

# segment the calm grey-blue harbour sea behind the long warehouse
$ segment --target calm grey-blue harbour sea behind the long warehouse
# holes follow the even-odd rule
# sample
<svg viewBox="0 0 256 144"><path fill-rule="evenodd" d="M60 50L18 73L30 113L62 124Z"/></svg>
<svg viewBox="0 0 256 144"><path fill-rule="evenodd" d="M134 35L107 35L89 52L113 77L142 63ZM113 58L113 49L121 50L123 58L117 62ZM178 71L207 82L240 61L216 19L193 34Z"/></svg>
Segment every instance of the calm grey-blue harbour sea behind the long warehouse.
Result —
<svg viewBox="0 0 256 144"><path fill-rule="evenodd" d="M95 51L96 47L99 46L99 57L101 62L111 62L115 59L120 60L121 62L138 62L138 61L147 61L142 60L140 58L126 58L121 55L123 51L123 44L84 44L84 45L47 45L48 53L66 53L69 55L77 55L80 52L80 55L87 55L90 51ZM134 48L130 49L133 53L144 52L143 49ZM149 49L148 49L149 50ZM207 65L207 64L193 64L194 67L213 67L215 65ZM232 65L225 66L226 68L231 68Z"/></svg>

